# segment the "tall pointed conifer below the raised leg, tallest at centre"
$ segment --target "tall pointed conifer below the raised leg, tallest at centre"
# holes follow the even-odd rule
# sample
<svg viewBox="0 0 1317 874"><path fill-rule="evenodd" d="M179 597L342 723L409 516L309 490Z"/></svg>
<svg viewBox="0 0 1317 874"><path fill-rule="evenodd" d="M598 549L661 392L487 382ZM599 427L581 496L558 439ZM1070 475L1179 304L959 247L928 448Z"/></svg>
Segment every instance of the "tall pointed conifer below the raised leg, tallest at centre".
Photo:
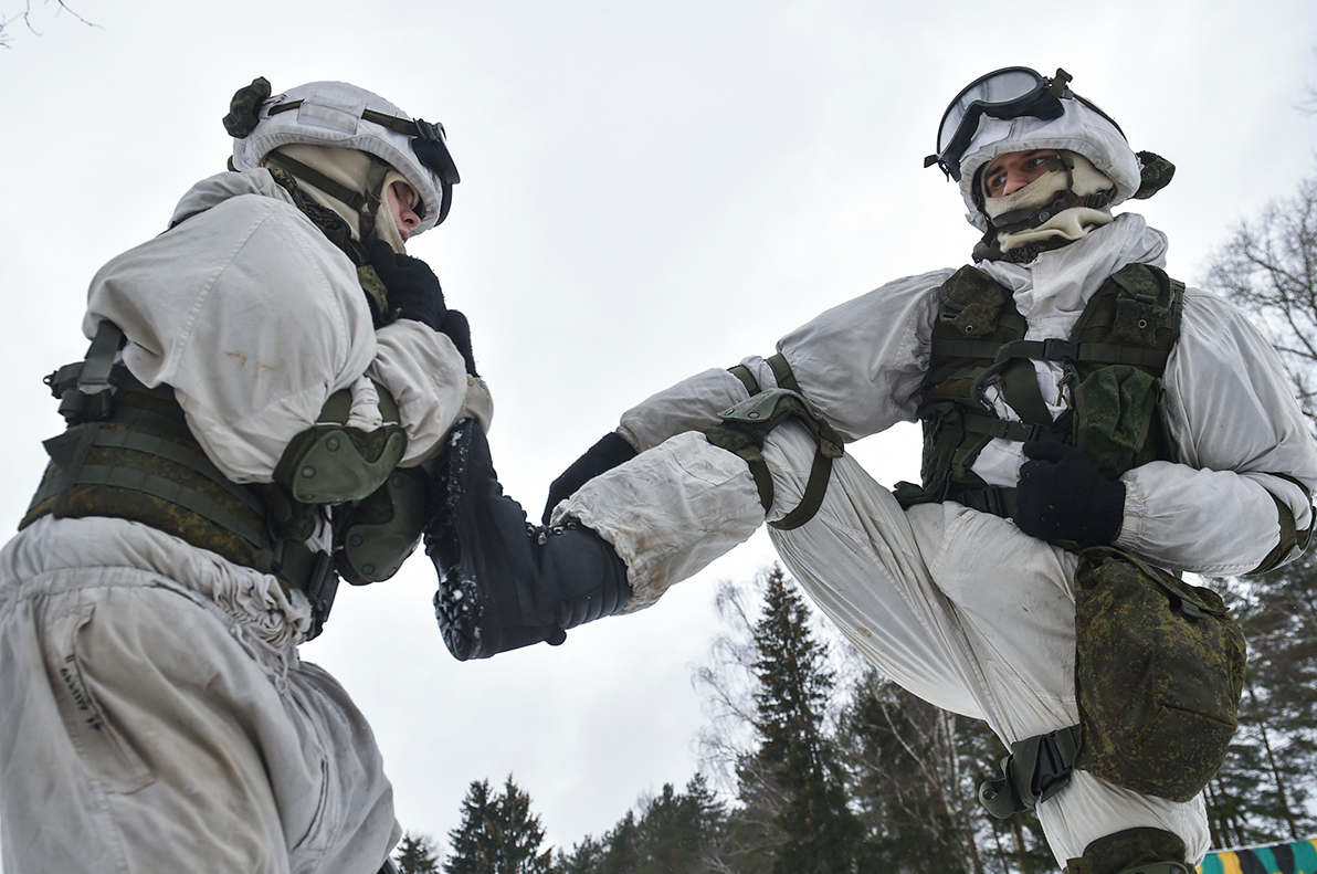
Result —
<svg viewBox="0 0 1317 874"><path fill-rule="evenodd" d="M835 677L810 617L786 574L774 566L753 632L755 728L761 745L740 769L743 802L773 811L774 874L852 871L860 837L835 746L824 733Z"/></svg>

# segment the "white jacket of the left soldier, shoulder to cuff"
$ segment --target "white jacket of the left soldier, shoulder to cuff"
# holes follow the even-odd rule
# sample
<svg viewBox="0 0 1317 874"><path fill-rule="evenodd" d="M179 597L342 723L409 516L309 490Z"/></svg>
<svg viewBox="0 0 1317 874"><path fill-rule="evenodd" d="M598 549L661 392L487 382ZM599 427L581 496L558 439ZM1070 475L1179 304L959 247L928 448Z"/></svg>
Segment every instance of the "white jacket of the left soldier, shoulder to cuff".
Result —
<svg viewBox="0 0 1317 874"><path fill-rule="evenodd" d="M357 401L350 424L378 428L367 378L398 400L402 465L437 453L466 400L461 354L416 321L375 330L356 267L267 171L199 182L174 221L101 267L83 333L94 336L103 319L117 324L129 370L148 386L174 387L225 475L270 482L288 441L340 388Z"/></svg>

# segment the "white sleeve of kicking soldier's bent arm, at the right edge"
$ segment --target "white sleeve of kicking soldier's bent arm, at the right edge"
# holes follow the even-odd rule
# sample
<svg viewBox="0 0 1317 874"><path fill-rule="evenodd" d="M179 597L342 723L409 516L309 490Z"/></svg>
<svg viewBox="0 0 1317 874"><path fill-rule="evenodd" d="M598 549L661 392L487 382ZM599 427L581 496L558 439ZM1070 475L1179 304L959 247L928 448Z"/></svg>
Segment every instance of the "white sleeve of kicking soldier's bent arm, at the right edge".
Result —
<svg viewBox="0 0 1317 874"><path fill-rule="evenodd" d="M1164 384L1180 459L1121 478L1115 545L1167 567L1249 573L1280 542L1276 500L1300 530L1312 524L1317 446L1280 359L1234 307L1191 290Z"/></svg>

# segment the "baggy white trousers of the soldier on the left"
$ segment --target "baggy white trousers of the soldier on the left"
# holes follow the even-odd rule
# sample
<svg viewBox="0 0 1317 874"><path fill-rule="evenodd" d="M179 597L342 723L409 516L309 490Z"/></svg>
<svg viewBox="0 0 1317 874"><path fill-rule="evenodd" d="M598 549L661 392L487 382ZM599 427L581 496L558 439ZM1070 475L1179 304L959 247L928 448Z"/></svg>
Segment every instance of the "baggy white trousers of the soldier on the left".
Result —
<svg viewBox="0 0 1317 874"><path fill-rule="evenodd" d="M124 525L42 520L0 554L4 871L375 874L392 790L348 694L298 661L298 605ZM97 552L194 578L59 567Z"/></svg>

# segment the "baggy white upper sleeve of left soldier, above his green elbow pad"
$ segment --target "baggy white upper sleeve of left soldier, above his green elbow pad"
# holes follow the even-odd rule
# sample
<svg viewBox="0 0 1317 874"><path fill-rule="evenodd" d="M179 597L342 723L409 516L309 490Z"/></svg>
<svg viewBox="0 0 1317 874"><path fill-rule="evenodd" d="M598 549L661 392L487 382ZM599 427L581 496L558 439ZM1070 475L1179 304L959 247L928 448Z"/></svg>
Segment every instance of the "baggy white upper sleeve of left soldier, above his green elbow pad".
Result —
<svg viewBox="0 0 1317 874"><path fill-rule="evenodd" d="M375 357L352 263L296 209L240 196L111 261L83 330L108 319L124 361L167 383L207 455L236 482L269 482L288 441Z"/></svg>

